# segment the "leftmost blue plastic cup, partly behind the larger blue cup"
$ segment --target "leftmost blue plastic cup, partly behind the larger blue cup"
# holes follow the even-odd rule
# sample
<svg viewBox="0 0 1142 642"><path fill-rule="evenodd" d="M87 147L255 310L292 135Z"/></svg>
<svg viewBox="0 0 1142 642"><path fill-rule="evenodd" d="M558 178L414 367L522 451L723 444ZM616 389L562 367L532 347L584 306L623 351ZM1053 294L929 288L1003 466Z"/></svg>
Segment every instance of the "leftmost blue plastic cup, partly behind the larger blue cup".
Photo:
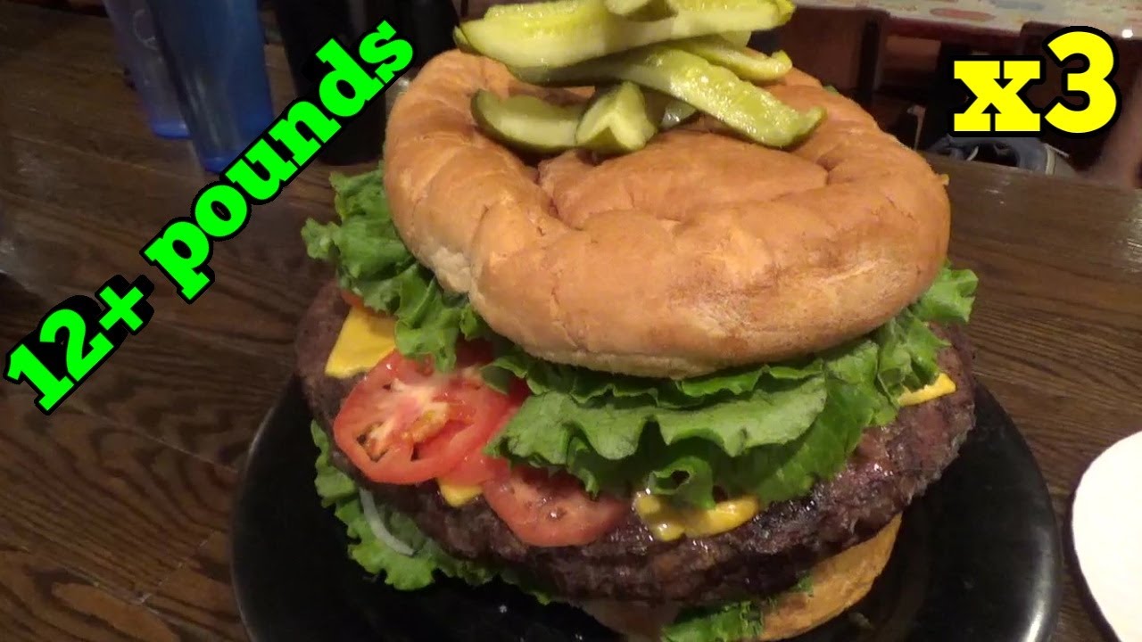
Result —
<svg viewBox="0 0 1142 642"><path fill-rule="evenodd" d="M178 96L170 85L167 63L154 37L154 22L145 0L103 0L115 41L135 91L143 101L151 130L163 138L186 138L186 121L178 107Z"/></svg>

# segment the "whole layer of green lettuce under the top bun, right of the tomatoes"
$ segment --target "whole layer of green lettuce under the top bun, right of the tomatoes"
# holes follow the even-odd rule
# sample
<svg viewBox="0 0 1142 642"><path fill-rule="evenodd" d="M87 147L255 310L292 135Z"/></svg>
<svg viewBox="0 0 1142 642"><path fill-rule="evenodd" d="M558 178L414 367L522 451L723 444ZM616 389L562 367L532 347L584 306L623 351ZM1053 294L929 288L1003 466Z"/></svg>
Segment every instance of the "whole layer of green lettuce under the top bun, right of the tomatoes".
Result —
<svg viewBox="0 0 1142 642"><path fill-rule="evenodd" d="M646 489L709 507L715 488L763 503L836 475L864 428L892 422L896 399L932 383L947 346L933 321L966 321L974 275L947 266L916 304L868 337L812 359L683 380L604 375L515 350L484 368L534 393L486 451L564 470L592 493ZM955 315L955 319L952 319Z"/></svg>

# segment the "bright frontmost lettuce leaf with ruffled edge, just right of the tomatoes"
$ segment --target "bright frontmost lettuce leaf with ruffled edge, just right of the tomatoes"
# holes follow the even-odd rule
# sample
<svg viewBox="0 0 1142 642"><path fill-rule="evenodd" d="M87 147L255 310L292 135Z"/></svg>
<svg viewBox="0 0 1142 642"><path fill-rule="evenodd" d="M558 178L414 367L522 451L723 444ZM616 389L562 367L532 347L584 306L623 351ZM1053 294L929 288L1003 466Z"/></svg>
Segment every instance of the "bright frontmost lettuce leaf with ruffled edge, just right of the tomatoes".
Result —
<svg viewBox="0 0 1142 642"><path fill-rule="evenodd" d="M524 402L489 450L566 470L592 493L649 488L709 507L714 480L732 458L791 442L810 428L825 408L826 385L822 375L796 385L775 380L769 390L698 409L658 408L629 398L581 406L570 395L546 392Z"/></svg>

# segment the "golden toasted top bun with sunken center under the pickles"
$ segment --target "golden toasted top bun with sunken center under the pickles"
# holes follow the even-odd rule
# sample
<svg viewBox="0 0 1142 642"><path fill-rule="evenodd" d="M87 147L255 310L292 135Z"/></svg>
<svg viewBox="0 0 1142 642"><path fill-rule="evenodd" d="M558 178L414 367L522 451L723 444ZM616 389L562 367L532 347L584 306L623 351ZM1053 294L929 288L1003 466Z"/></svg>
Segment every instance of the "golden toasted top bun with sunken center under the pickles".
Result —
<svg viewBox="0 0 1142 642"><path fill-rule="evenodd" d="M437 56L389 117L385 187L417 258L536 356L683 377L802 355L891 319L944 258L940 177L804 73L769 88L828 110L791 151L707 120L538 169L478 131L481 88L548 93L488 58Z"/></svg>

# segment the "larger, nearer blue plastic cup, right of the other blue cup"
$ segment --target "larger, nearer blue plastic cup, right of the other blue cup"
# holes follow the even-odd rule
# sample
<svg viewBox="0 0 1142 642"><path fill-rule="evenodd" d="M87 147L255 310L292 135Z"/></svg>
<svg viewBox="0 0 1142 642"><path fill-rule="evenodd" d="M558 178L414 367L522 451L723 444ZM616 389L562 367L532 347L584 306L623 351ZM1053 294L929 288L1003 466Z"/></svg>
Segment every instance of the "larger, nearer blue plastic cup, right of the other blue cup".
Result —
<svg viewBox="0 0 1142 642"><path fill-rule="evenodd" d="M199 161L220 172L274 118L256 0L150 0Z"/></svg>

